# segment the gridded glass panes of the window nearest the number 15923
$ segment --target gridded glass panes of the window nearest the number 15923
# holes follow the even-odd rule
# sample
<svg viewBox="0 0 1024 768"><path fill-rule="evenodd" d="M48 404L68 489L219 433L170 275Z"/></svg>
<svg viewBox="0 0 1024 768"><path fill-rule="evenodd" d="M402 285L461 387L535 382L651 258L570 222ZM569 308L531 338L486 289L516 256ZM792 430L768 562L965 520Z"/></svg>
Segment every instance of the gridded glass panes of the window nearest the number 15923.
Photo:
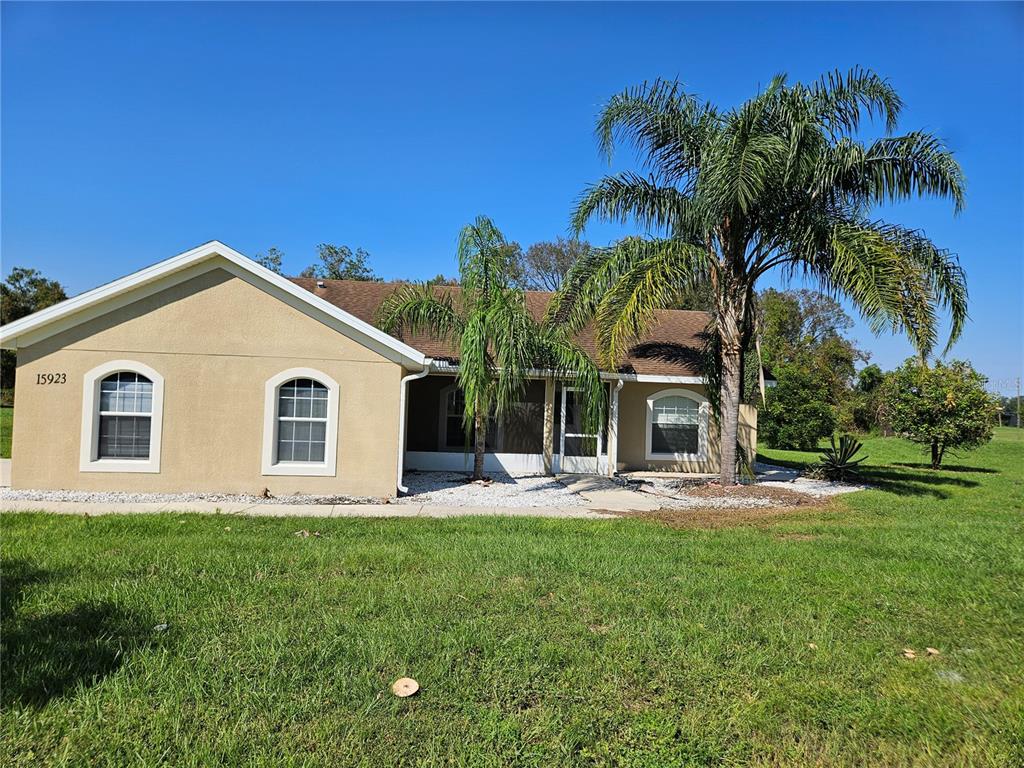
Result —
<svg viewBox="0 0 1024 768"><path fill-rule="evenodd" d="M99 382L97 459L148 459L153 434L153 382L118 371Z"/></svg>

